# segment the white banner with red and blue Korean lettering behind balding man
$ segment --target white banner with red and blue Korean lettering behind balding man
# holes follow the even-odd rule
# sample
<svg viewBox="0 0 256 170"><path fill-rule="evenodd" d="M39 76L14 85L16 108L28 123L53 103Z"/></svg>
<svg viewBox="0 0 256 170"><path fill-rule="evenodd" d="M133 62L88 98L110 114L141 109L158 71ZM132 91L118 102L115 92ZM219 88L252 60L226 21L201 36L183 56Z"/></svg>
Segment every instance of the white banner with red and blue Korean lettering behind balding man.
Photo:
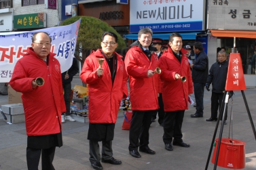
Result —
<svg viewBox="0 0 256 170"><path fill-rule="evenodd" d="M52 37L51 51L60 62L61 72L67 71L73 62L75 45L81 20L67 26L56 26L22 33L1 33L0 35L0 83L7 83L12 78L16 62L29 51L31 37L43 31Z"/></svg>

